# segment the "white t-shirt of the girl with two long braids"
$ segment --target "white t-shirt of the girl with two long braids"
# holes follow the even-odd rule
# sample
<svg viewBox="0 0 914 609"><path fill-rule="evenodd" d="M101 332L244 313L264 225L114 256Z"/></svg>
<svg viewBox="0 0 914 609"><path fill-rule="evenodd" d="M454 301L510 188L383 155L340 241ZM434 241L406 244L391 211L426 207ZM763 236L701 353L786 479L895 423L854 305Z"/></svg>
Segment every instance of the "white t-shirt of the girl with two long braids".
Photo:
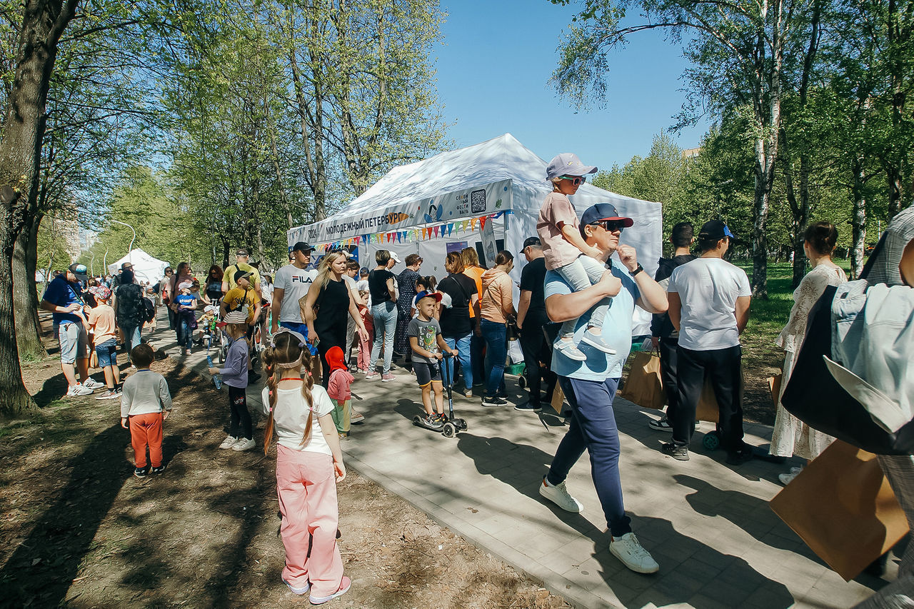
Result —
<svg viewBox="0 0 914 609"><path fill-rule="evenodd" d="M304 401L302 386L297 383L286 383L290 387L276 390L276 408L273 410L273 429L276 432L276 442L295 451L308 451L310 453L333 453L321 432L319 417L334 410L334 403L330 401L327 391L315 384L311 388L311 397L314 400L314 416L311 419L311 437L304 446L304 430L308 425L308 402ZM269 414L270 388L264 387L260 394L263 410ZM334 430L335 431L335 430Z"/></svg>

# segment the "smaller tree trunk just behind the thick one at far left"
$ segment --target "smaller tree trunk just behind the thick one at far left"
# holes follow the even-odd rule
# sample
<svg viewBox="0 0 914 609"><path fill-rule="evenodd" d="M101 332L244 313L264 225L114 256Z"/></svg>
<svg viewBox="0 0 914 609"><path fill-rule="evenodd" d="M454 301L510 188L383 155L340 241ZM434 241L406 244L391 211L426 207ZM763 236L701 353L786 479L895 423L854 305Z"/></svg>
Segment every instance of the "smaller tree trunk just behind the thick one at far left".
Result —
<svg viewBox="0 0 914 609"><path fill-rule="evenodd" d="M40 217L26 220L26 225L19 231L16 248L13 251L13 310L16 320L16 343L21 359L43 358L47 355L41 343L35 283L40 221Z"/></svg>

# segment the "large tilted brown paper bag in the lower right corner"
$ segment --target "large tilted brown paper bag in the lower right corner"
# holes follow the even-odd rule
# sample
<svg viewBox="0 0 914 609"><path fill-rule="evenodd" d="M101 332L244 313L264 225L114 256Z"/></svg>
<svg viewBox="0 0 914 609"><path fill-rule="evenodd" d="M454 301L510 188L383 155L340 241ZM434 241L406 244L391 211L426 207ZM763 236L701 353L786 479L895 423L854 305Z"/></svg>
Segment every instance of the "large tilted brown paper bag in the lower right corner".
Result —
<svg viewBox="0 0 914 609"><path fill-rule="evenodd" d="M840 440L771 499L771 509L850 581L908 533L876 455Z"/></svg>

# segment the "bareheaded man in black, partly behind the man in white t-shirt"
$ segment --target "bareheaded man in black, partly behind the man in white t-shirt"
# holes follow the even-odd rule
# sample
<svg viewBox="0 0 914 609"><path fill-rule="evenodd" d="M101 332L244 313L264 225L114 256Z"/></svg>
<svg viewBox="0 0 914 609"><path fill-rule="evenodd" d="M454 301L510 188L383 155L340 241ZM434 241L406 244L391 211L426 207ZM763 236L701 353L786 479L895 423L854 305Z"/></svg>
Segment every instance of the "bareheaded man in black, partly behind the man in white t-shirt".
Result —
<svg viewBox="0 0 914 609"><path fill-rule="evenodd" d="M673 227L670 241L674 247L673 257L661 258L657 273L654 275L654 281L660 283L664 290L677 266L696 259L689 250L695 242L695 228L689 222L679 222ZM673 432L670 420L675 416L676 406L679 404L676 382L676 347L679 345L679 333L673 327L669 314L654 314L651 321L651 342L660 353L660 376L664 381L666 393L666 416L659 421L652 420L648 425L658 432Z"/></svg>

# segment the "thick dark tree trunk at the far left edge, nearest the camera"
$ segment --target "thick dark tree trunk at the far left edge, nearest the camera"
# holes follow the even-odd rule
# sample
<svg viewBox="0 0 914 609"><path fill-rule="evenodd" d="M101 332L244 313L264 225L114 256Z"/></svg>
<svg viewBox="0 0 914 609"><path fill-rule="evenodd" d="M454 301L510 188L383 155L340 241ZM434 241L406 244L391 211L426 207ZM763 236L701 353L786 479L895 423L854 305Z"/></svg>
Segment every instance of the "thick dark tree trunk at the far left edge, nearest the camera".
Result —
<svg viewBox="0 0 914 609"><path fill-rule="evenodd" d="M27 0L0 144L0 412L35 405L22 381L13 315L13 253L37 197L41 140L57 45L77 0Z"/></svg>

